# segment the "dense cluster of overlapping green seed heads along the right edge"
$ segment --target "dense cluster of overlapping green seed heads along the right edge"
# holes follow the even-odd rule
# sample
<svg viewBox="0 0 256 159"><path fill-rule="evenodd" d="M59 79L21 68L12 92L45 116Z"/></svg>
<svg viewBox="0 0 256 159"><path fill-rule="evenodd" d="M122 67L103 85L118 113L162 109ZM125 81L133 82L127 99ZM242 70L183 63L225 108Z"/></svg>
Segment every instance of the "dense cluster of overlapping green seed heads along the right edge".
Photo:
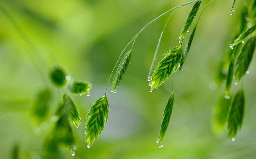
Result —
<svg viewBox="0 0 256 159"><path fill-rule="evenodd" d="M234 2L235 3L235 2ZM221 66L222 73L219 81L226 80L225 82L225 95L221 96L220 101L216 105L215 117L215 129L217 132L223 131L224 126L228 123L228 137L230 139L237 135L238 129L242 126L244 118L245 98L243 89L239 89L233 99L231 100L230 89L235 79L235 84L244 77L248 71L249 65L252 60L252 56L256 46L256 24L251 26L250 19L255 19L255 5L254 1L251 7L246 5L241 12L240 28L238 29L237 36L233 39L233 43L230 44L230 48L226 53ZM225 65L228 65L228 72L223 72ZM227 74L227 75L225 75ZM223 99L226 98L226 99ZM232 101L232 102L231 102Z"/></svg>

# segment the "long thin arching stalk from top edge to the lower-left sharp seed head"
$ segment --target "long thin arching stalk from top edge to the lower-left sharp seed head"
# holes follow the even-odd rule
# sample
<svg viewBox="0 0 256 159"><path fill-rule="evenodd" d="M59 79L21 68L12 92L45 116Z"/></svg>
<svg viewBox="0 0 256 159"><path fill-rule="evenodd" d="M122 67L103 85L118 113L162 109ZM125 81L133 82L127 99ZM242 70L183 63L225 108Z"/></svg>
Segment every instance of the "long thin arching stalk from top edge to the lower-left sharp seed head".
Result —
<svg viewBox="0 0 256 159"><path fill-rule="evenodd" d="M135 38L137 38L137 36L139 36L139 34L140 34L147 26L149 26L150 24L152 24L154 21L157 21L158 19L160 19L161 17L163 17L165 14L167 14L167 13L169 13L169 12L171 12L171 11L177 9L177 8L181 8L181 7L185 6L185 5L189 5L189 4L191 4L191 3L195 3L195 2L198 2L198 1L200 1L200 0L193 0L193 1L190 1L190 2L187 2L187 3L183 3L183 4L181 4L181 5L178 5L178 6L172 8L172 9L170 9L170 10L167 10L166 12L162 13L161 15L159 15L158 17L156 17L155 19L153 19L152 21L150 21L149 23L147 23L146 26L144 26L144 27L128 42L128 44L126 44L126 46L124 47L124 49L121 51L121 53L120 53L120 55L119 55L119 57L118 57L118 59L117 59L117 62L116 62L115 66L114 66L114 68L113 68L113 70L112 70L112 72L111 72L111 74L110 74L110 76L109 76L109 79L108 79L108 81L107 81L106 90L105 90L105 95L107 94L107 87L108 87L109 82L110 82L110 79L111 79L111 77L112 77L112 75L113 75L113 73L114 73L114 70L116 69L116 66L117 66L117 64L118 64L118 62L119 62L121 56L123 55L124 51L126 50L127 46L128 46L130 43L132 43L132 41L133 41Z"/></svg>

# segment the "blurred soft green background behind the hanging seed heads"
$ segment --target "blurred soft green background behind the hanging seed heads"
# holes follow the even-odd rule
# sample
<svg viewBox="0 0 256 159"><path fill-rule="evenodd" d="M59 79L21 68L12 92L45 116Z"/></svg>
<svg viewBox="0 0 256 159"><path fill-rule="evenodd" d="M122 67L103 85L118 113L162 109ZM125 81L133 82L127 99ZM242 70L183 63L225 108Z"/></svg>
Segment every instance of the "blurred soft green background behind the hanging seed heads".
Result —
<svg viewBox="0 0 256 159"><path fill-rule="evenodd" d="M135 43L132 60L117 93L108 91L109 120L98 140L86 148L84 125L92 103L104 95L119 53L147 22L188 0L3 0L1 6L32 41L31 49L0 12L0 158L9 158L14 143L20 157L40 159L64 90L50 84L49 69L60 65L68 75L93 84L91 96L71 96L81 115L74 130L77 159L253 159L256 157L256 59L244 78L245 118L235 142L212 130L212 111L223 86L216 88L217 68L239 21L242 0L215 0L198 24L183 70L175 74L175 101L170 125L159 149L161 117L172 91L172 79L149 92L147 74L168 15L149 26ZM199 12L208 1L203 1ZM167 25L160 55L178 44L192 5L178 9ZM186 39L188 35L186 36ZM43 58L46 63L42 61ZM32 59L32 60L31 60ZM40 76L33 63L39 66ZM31 117L39 89L51 86L54 101L47 126L39 130ZM232 86L235 92L240 85Z"/></svg>

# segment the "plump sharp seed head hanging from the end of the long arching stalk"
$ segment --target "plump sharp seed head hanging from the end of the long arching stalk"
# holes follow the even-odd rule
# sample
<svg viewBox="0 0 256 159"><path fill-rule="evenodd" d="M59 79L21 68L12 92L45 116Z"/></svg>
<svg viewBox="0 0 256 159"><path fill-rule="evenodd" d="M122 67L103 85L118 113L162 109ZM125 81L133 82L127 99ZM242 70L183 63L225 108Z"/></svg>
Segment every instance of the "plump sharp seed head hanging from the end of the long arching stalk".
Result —
<svg viewBox="0 0 256 159"><path fill-rule="evenodd" d="M107 96L103 96L96 100L93 103L93 106L91 106L86 117L86 141L88 148L97 140L102 132L105 122L107 122L108 114L109 103L107 101Z"/></svg>

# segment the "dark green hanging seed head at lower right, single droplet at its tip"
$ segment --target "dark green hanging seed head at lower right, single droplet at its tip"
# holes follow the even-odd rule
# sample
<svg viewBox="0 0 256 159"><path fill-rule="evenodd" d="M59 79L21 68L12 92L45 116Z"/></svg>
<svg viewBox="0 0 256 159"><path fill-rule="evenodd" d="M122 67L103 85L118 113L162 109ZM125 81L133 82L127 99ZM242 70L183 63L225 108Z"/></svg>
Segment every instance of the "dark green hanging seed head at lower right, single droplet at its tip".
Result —
<svg viewBox="0 0 256 159"><path fill-rule="evenodd" d="M244 91L240 89L235 94L230 109L230 114L228 118L228 137L234 138L237 135L237 130L242 127L244 119Z"/></svg>

